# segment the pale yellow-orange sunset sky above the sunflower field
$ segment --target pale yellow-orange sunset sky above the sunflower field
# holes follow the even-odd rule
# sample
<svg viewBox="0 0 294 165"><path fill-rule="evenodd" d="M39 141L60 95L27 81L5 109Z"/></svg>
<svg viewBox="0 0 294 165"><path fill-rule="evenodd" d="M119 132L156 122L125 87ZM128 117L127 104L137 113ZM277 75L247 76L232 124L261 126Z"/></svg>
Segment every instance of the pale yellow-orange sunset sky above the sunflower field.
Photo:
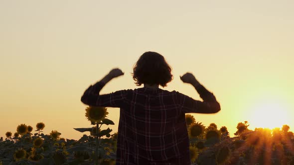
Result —
<svg viewBox="0 0 294 165"><path fill-rule="evenodd" d="M146 51L172 67L165 90L201 100L179 79L191 72L214 93L220 112L192 114L205 126L226 126L232 136L244 121L292 130L293 7L293 0L0 0L0 136L44 122L45 134L79 139L73 128L91 127L84 90L113 68L125 75L101 94L137 88L131 73ZM108 111L116 132L119 109Z"/></svg>

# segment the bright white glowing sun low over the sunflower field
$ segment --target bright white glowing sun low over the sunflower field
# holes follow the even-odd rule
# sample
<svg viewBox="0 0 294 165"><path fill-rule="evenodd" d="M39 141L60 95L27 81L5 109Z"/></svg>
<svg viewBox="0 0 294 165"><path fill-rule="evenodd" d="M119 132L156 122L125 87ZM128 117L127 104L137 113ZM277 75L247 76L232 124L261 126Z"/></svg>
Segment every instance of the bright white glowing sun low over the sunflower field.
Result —
<svg viewBox="0 0 294 165"><path fill-rule="evenodd" d="M249 113L248 121L251 129L254 128L281 128L289 124L289 109L286 104L275 101L257 103Z"/></svg>

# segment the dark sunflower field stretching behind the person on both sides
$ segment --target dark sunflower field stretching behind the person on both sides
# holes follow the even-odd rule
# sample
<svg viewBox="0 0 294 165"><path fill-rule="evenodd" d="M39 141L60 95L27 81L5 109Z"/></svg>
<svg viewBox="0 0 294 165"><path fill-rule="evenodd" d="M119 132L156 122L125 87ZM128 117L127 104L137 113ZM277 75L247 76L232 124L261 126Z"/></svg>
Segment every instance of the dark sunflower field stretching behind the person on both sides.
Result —
<svg viewBox="0 0 294 165"><path fill-rule="evenodd" d="M20 124L16 132L0 139L0 165L115 165L117 133L101 126L114 125L104 107L88 107L89 128L74 128L90 135L79 140L61 138L56 130L44 135L45 124L36 129ZM234 137L227 128L204 126L186 114L192 165L294 165L294 133L290 127L249 130L247 121L237 125Z"/></svg>

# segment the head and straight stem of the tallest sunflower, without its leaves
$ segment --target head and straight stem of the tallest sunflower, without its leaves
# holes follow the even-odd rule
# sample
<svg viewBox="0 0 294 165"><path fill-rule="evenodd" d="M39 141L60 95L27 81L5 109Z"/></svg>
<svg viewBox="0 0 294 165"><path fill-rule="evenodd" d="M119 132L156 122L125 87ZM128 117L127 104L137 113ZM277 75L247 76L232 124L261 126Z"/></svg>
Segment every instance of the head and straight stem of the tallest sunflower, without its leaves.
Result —
<svg viewBox="0 0 294 165"><path fill-rule="evenodd" d="M100 136L99 136L99 129L102 126L102 119L105 119L106 115L108 114L107 108L105 107L94 107L90 106L86 108L86 114L85 116L91 123L96 123L96 160L95 160L95 165L98 165L99 161L99 146L100 146ZM99 124L101 125L99 126Z"/></svg>

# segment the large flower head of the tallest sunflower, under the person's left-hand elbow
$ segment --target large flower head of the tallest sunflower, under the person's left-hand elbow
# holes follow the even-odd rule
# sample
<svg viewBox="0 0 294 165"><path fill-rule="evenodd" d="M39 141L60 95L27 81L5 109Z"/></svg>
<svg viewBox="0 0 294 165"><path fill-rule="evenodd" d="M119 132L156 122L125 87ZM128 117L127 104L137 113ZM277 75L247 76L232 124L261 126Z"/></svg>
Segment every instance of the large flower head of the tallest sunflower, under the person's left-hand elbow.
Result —
<svg viewBox="0 0 294 165"><path fill-rule="evenodd" d="M105 107L90 106L86 108L85 116L91 122L100 122L107 114L107 108Z"/></svg>

